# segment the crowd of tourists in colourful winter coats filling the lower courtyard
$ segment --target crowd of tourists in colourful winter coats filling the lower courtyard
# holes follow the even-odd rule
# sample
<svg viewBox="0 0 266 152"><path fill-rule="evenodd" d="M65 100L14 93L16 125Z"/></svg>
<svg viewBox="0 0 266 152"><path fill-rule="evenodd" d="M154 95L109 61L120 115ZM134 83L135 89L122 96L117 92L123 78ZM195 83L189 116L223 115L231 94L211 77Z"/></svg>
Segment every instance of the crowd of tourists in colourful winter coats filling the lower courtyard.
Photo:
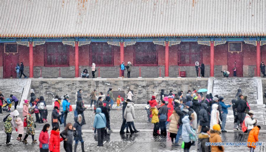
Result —
<svg viewBox="0 0 266 152"><path fill-rule="evenodd" d="M43 130L39 135L40 151L60 151L60 142L64 141L64 149L69 152L72 151L72 143L74 142L74 151L77 151L78 143L81 143L81 150L84 150L84 140L82 138L82 126L86 124L84 111L88 108L84 105L82 99L82 89L76 93L74 110L74 124L67 123L67 115L72 111L72 106L68 95L59 97L56 95L53 101L53 111L51 113L51 133L50 137L48 131L50 124L47 122L48 110L43 96L37 98L34 90L30 90L30 100L25 100L23 104L22 117L16 110L10 112L4 118L4 129L7 135L6 145L11 145L11 134L13 128L16 130L17 140L27 144L27 137L31 135L32 143L38 143L35 140L35 123L46 123L43 125ZM132 101L132 90L128 90L127 99L118 96L116 99L117 107L122 108L122 125L120 134L137 133L139 130L135 128L134 119L136 119L134 111L134 102ZM18 102L14 96L9 99L11 102ZM110 126L110 111L114 104L112 88L108 89L107 95L103 92L97 94L94 89L91 94L90 106L94 103L93 109L95 118L93 122L93 131L98 138L98 146L103 146L104 137L108 136L111 130ZM63 100L62 100L63 99ZM7 99L0 92L0 105ZM228 102L227 102L228 103ZM16 104L15 104L16 105ZM196 146L198 151L224 151L223 146L206 145L205 143L222 142L220 136L221 132L226 131L226 119L228 108L233 108L234 115L234 130L248 133L248 142L257 142L260 126L257 125L257 120L253 118L254 111L250 109L247 101L247 96L244 96L241 89L237 90L235 99L229 104L225 104L223 96L212 93L203 96L202 92L198 92L195 88L186 93L179 91L174 93L169 91L167 94L165 90L161 90L160 95L154 93L151 100L147 101L145 110L147 111L147 122L154 125L153 136L167 137L167 132L171 138L172 146L181 146L184 152L189 151L191 146ZM2 108L1 108L2 109ZM8 109L10 110L10 109ZM2 111L1 111L2 112ZM9 112L9 111L7 111ZM35 114L35 117L34 117ZM24 122L23 122L24 120ZM167 124L169 129L167 130ZM60 126L64 126L64 130L60 133ZM24 134L24 127L26 127L26 134ZM129 130L128 130L129 128ZM126 132L125 132L126 129ZM199 134L199 135L197 135ZM182 138L181 142L179 142ZM254 151L255 146L249 146L250 151Z"/></svg>

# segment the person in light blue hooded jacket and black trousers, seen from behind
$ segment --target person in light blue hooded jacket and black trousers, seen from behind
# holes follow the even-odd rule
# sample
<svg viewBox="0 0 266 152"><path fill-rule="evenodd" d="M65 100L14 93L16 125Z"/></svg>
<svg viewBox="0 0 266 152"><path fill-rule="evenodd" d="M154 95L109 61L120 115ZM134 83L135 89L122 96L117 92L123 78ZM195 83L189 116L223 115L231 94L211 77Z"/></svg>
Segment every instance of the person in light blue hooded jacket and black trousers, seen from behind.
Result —
<svg viewBox="0 0 266 152"><path fill-rule="evenodd" d="M103 146L104 130L106 127L106 118L100 108L96 109L96 114L94 117L93 130L97 129L98 134L98 145Z"/></svg>

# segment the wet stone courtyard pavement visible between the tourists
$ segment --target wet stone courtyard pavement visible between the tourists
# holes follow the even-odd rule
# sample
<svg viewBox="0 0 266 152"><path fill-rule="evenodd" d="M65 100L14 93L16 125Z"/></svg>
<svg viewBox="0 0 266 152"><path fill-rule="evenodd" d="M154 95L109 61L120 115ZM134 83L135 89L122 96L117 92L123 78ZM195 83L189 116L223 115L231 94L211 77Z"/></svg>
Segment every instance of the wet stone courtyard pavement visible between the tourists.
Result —
<svg viewBox="0 0 266 152"><path fill-rule="evenodd" d="M121 108L119 109L113 109L110 112L110 122L111 122L111 128L114 130L113 133L110 134L110 136L105 137L105 142L103 147L97 147L97 136L95 136L92 132L93 127L93 120L94 120L94 113L93 109L87 109L85 111L85 119L86 119L86 125L82 127L83 129L83 139L85 141L85 150L86 151L183 151L181 147L172 147L171 139L169 138L169 133L167 138L163 137L157 137L154 138L152 135L153 130L153 124L150 122L147 122L147 113L144 110L145 105L135 105L135 115L136 119L134 120L135 127L137 130L140 130L137 134L124 134L120 135L119 130L122 123L122 111ZM255 111L255 118L259 120L259 124L262 126L262 131L265 132L265 107L262 107L261 105L252 105L252 109ZM51 124L51 108L48 107L48 123ZM12 108L13 111L13 108ZM22 109L18 109L20 112L20 116L22 118ZM6 112L4 114L0 115L0 128L3 127L3 118L6 116ZM74 122L73 121L74 114L73 112L70 112L67 117L67 122ZM264 124L264 125L263 125ZM39 138L39 132L43 127L43 124L36 123L36 134L35 139L38 140ZM169 124L168 124L169 126ZM167 128L168 128L167 126ZM226 129L231 130L233 127L233 116L232 116L232 110L229 110L228 117L227 117L227 123L226 123ZM61 130L63 130L64 127L61 127ZM6 134L4 133L4 130L0 130L0 151L6 151L7 148L9 151L39 151L38 145L39 144L31 144L31 138L28 137L28 144L22 144L21 142L18 142L15 140L17 138L17 133L15 131L12 132L12 137L14 138L11 140L13 143L10 146L5 145L6 140ZM26 133L26 130L24 131ZM243 133L223 133L221 134L222 140L224 142L246 142L247 141L247 135ZM24 137L24 135L23 135ZM262 146L257 146L257 151L266 151L266 134L260 133L259 134L259 141L263 142ZM179 140L179 143L181 144L181 139ZM197 143L196 143L197 145ZM78 147L78 151L81 151L80 145ZM64 151L63 148L63 142L61 142L61 151ZM190 151L195 152L197 151L197 146L192 146ZM225 147L225 151L234 151L234 152L246 152L249 151L249 149L245 146L238 146L238 147Z"/></svg>

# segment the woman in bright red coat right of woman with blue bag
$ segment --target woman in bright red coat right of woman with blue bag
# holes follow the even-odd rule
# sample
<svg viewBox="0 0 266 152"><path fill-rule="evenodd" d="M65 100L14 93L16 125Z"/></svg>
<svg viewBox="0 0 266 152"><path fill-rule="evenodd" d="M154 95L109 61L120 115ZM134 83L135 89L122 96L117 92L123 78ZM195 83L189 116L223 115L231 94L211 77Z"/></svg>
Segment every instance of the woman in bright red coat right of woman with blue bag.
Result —
<svg viewBox="0 0 266 152"><path fill-rule="evenodd" d="M53 127L53 130L51 130L49 141L49 150L51 152L60 152L60 142L63 141L63 138L60 138L59 133L58 127Z"/></svg>

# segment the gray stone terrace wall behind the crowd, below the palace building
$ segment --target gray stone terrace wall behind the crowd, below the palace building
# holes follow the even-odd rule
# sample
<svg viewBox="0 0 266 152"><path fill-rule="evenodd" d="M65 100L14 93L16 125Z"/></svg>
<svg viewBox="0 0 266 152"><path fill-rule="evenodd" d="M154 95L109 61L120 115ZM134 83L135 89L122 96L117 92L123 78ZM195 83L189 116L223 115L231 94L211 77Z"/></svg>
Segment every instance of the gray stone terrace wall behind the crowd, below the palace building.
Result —
<svg viewBox="0 0 266 152"><path fill-rule="evenodd" d="M95 88L97 94L102 91L105 95L109 88L118 91L121 88L122 94L126 94L128 88L133 90L132 100L136 104L145 104L150 100L154 92L160 95L160 90L165 89L166 93L173 90L177 93L183 90L208 87L208 78L103 78L103 79L32 79L31 88L35 90L37 97L44 96L48 104L55 95L63 96L68 94L70 100L75 100L75 93L82 88L83 100L86 104L90 104L90 93ZM116 98L116 96L115 96Z"/></svg>

